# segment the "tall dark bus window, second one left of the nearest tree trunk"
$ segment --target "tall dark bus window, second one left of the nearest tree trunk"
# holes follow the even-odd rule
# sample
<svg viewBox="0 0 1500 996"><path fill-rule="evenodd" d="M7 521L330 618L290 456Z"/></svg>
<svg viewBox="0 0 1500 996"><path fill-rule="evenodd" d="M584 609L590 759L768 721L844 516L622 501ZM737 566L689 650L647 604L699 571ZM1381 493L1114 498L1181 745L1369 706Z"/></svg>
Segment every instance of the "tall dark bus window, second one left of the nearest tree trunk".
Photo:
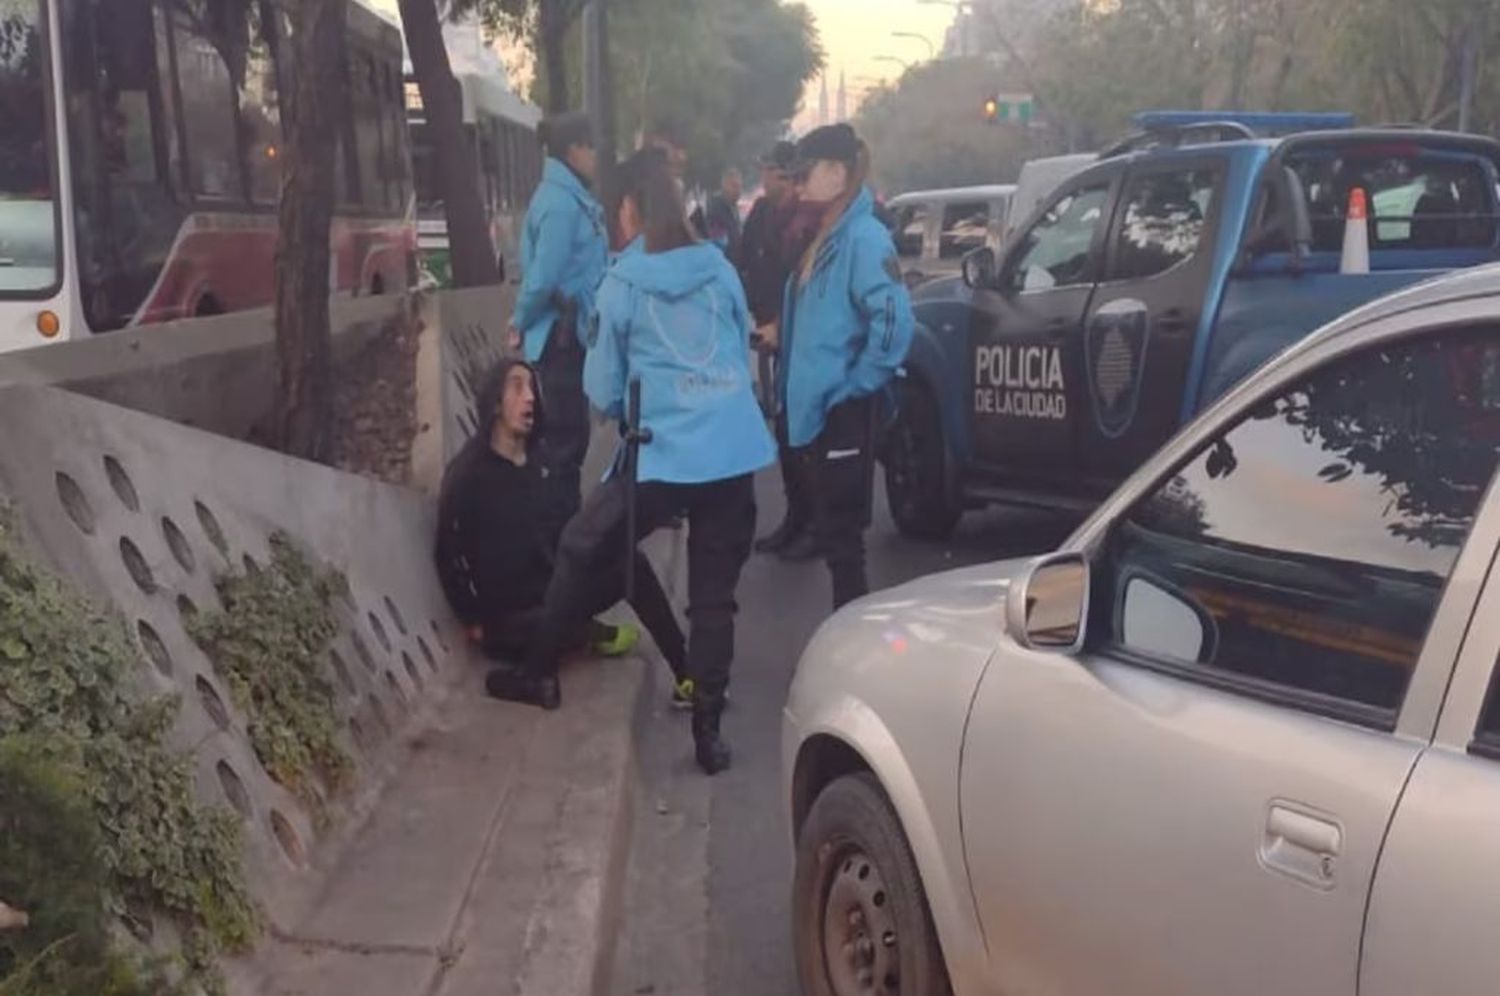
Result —
<svg viewBox="0 0 1500 996"><path fill-rule="evenodd" d="M188 132L188 183L198 196L238 201L244 196L244 180L236 135L234 84L224 56L206 34L207 10L200 3L188 6L195 14L178 10L172 24Z"/></svg>

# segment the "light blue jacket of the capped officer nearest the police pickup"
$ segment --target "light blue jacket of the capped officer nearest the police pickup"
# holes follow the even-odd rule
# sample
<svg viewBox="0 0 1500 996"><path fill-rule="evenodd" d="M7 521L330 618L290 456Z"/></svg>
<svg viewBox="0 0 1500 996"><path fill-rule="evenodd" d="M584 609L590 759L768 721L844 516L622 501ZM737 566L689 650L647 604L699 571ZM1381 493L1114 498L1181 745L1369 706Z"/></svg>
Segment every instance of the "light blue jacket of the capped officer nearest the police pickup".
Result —
<svg viewBox="0 0 1500 996"><path fill-rule="evenodd" d="M896 244L867 188L828 232L812 278L802 284L796 272L788 282L780 384L788 441L808 446L831 408L885 390L906 362L914 326Z"/></svg>

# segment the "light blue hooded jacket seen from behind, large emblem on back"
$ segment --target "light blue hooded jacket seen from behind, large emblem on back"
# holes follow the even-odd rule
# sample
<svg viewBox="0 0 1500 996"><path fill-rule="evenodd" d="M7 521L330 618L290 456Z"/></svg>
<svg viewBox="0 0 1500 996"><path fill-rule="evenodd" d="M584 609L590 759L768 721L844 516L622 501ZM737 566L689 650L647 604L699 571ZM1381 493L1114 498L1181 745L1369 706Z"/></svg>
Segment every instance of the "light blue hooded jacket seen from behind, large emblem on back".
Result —
<svg viewBox="0 0 1500 996"><path fill-rule="evenodd" d="M618 255L596 300L584 388L624 417L640 378L638 480L699 484L776 460L750 381L750 309L740 274L711 243Z"/></svg>

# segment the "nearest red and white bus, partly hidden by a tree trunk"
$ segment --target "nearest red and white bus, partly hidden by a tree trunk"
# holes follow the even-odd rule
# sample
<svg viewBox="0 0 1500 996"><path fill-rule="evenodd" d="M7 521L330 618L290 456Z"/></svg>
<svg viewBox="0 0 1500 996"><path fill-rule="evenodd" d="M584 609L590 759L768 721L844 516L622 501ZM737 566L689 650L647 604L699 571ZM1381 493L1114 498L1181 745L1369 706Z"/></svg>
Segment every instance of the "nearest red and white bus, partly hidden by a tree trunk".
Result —
<svg viewBox="0 0 1500 996"><path fill-rule="evenodd" d="M0 0L0 351L272 302L291 3ZM346 52L330 284L399 291L400 32Z"/></svg>

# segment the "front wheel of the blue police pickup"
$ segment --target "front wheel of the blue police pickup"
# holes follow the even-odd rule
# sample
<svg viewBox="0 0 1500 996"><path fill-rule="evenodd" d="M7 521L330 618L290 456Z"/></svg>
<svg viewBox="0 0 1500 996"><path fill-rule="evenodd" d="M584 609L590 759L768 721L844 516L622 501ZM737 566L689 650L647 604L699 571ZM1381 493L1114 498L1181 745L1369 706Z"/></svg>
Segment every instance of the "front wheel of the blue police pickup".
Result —
<svg viewBox="0 0 1500 996"><path fill-rule="evenodd" d="M900 384L896 424L885 446L885 498L902 536L946 540L963 507L948 494L948 441L938 400L926 384Z"/></svg>

